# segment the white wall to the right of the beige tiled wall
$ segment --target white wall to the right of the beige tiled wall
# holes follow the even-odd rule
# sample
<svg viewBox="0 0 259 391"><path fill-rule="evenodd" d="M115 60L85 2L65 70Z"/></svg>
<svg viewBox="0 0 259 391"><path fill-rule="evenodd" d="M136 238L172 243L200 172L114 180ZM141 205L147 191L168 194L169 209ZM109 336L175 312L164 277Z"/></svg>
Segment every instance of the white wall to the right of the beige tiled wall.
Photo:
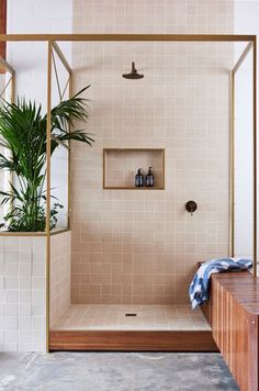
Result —
<svg viewBox="0 0 259 391"><path fill-rule="evenodd" d="M235 1L235 34L259 35L258 15L259 1ZM240 45L236 47L237 54L240 54ZM235 255L237 256L252 255L251 82L251 56L249 55L236 77Z"/></svg>

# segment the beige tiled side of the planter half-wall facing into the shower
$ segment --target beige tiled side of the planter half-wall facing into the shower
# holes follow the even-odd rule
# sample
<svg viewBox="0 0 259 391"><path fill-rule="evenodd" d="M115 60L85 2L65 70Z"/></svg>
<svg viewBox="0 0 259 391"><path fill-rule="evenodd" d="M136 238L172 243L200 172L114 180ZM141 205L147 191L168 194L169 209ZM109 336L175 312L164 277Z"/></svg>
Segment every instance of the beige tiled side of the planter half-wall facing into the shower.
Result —
<svg viewBox="0 0 259 391"><path fill-rule="evenodd" d="M70 232L50 237L50 327L70 304Z"/></svg>

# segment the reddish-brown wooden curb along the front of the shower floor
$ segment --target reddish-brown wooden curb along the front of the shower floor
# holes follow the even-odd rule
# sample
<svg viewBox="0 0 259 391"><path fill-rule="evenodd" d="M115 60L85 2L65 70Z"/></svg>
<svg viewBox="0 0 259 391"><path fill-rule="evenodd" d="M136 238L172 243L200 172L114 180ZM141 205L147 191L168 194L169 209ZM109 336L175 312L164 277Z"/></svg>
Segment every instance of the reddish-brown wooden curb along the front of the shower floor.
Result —
<svg viewBox="0 0 259 391"><path fill-rule="evenodd" d="M211 331L50 331L49 350L218 351Z"/></svg>

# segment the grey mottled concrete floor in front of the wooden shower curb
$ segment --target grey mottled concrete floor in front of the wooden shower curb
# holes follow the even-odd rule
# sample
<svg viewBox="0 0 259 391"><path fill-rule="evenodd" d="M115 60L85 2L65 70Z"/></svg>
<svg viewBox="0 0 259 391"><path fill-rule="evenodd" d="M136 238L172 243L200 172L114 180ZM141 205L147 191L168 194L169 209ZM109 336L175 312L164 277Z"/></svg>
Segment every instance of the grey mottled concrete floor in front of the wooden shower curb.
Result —
<svg viewBox="0 0 259 391"><path fill-rule="evenodd" d="M0 354L0 390L238 390L217 354Z"/></svg>

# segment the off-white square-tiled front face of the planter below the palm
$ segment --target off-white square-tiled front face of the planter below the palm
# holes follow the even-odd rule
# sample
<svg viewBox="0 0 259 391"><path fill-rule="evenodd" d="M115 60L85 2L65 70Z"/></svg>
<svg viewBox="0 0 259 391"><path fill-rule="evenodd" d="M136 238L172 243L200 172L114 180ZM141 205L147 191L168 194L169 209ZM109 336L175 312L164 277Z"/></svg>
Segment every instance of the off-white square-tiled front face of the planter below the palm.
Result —
<svg viewBox="0 0 259 391"><path fill-rule="evenodd" d="M0 351L46 351L46 237L0 237Z"/></svg>

